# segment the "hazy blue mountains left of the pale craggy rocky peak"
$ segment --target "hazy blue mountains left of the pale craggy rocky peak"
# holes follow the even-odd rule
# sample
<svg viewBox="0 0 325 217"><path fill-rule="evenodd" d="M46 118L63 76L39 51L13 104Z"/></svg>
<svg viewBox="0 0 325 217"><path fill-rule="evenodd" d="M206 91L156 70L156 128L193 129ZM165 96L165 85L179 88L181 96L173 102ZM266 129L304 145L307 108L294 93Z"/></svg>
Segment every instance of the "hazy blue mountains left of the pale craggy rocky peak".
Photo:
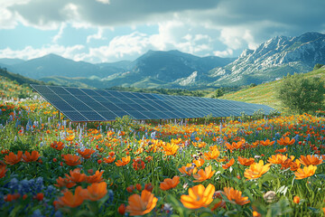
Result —
<svg viewBox="0 0 325 217"><path fill-rule="evenodd" d="M85 61L72 61L55 54L23 61L19 59L0 59L0 66L23 76L53 81L60 84L74 84L108 88L112 86L131 86L152 80L157 87L190 76L193 71L199 74L225 66L235 58L216 56L197 57L179 51L146 52L135 61L91 64Z"/></svg>

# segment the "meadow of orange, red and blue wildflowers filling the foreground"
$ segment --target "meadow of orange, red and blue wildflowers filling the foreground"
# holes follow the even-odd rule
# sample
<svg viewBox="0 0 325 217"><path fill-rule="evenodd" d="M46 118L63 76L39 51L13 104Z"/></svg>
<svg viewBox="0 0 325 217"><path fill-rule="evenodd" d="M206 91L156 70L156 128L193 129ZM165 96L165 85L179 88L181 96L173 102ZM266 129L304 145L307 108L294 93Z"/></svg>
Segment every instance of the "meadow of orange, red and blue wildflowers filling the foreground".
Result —
<svg viewBox="0 0 325 217"><path fill-rule="evenodd" d="M0 110L1 216L325 212L323 117L86 124L39 99Z"/></svg>

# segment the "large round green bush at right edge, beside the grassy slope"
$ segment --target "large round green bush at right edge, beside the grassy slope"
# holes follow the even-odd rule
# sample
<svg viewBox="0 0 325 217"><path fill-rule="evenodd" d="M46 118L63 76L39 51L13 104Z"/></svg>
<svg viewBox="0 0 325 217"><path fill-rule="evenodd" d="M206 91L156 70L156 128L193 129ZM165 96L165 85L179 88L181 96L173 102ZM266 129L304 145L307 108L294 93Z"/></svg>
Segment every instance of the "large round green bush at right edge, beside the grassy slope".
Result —
<svg viewBox="0 0 325 217"><path fill-rule="evenodd" d="M294 112L313 112L322 107L325 88L319 78L304 78L301 74L287 75L280 83L278 99Z"/></svg>

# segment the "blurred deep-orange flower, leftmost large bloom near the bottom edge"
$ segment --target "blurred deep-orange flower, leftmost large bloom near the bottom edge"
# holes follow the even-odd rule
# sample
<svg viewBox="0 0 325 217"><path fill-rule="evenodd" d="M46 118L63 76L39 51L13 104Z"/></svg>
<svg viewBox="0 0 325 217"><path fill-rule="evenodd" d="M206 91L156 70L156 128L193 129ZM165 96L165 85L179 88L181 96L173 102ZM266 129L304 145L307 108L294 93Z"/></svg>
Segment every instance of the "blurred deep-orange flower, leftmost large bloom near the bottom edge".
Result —
<svg viewBox="0 0 325 217"><path fill-rule="evenodd" d="M63 193L63 196L61 196L58 200L58 204L62 206L69 206L71 208L79 206L81 203L83 203L84 199L87 198L87 190L82 189L81 186L78 186L75 190L75 194L71 193L70 191L67 191Z"/></svg>

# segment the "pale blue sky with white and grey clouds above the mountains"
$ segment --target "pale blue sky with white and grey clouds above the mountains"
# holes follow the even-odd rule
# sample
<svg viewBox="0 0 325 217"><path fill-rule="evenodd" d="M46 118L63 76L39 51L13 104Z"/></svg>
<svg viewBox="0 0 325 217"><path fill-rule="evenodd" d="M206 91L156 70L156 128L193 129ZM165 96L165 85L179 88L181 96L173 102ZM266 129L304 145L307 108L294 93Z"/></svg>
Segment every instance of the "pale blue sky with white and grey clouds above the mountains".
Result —
<svg viewBox="0 0 325 217"><path fill-rule="evenodd" d="M324 0L0 0L0 58L237 57L274 36L325 33L324 8Z"/></svg>

